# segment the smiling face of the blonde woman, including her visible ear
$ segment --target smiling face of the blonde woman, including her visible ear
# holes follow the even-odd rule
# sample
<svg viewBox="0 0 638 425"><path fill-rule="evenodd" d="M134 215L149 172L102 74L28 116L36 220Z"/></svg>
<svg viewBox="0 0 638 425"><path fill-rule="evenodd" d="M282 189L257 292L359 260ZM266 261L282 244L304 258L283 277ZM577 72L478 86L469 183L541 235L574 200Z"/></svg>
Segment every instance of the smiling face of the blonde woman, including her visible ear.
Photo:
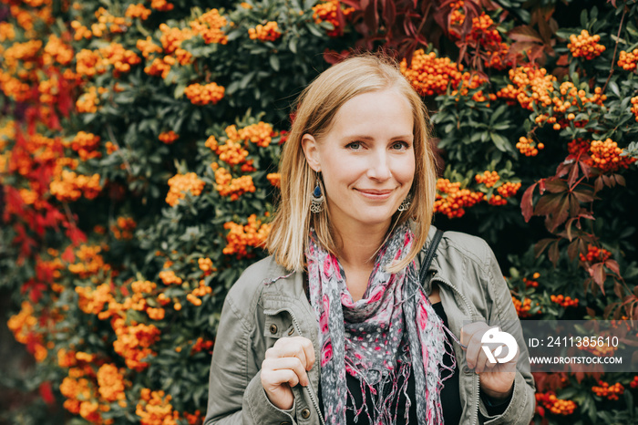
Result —
<svg viewBox="0 0 638 425"><path fill-rule="evenodd" d="M337 231L390 225L414 180L413 128L409 102L389 88L345 102L320 140L304 135L306 160L322 172Z"/></svg>

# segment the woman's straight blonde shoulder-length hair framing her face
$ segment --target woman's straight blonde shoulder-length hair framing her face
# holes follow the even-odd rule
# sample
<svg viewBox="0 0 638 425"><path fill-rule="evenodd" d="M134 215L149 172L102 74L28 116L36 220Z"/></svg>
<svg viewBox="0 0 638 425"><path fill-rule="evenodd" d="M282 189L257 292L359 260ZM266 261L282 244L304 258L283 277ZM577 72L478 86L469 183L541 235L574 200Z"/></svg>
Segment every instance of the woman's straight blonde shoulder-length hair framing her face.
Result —
<svg viewBox="0 0 638 425"><path fill-rule="evenodd" d="M411 218L415 241L404 260L389 267L388 271L396 272L406 267L426 244L437 180L427 109L401 74L396 61L373 54L357 55L326 69L304 89L294 105L293 125L283 145L279 163L280 199L266 240L266 247L274 260L286 269L304 270L304 253L311 226L324 249L337 256L340 251L338 235L333 233L330 225L328 208L324 208L322 213L310 212L311 193L317 177L304 156L304 134L320 139L330 130L334 116L345 102L360 94L386 88L397 89L410 104L416 161L414 181L409 192L412 201L407 211L393 215L388 231L389 234L396 226Z"/></svg>

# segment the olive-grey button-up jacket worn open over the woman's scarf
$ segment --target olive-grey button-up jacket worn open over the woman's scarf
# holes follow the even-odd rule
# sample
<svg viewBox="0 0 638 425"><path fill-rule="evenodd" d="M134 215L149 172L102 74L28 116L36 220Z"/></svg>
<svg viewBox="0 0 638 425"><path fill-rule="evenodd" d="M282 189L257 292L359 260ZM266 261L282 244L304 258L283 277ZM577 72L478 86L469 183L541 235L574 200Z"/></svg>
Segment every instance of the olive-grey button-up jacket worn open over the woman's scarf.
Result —
<svg viewBox="0 0 638 425"><path fill-rule="evenodd" d="M430 239L435 231L431 226ZM417 260L423 257L425 251ZM508 408L501 415L489 416L479 397L478 375L468 368L463 349L453 344L460 368L460 423L528 425L535 406L530 358L508 286L488 244L465 233L444 233L424 283L426 294L435 282L448 327L456 336L469 321L487 321L514 336L520 347ZM293 387L290 410L276 408L262 388L260 369L266 350L278 338L293 336L309 338L315 358L320 358L316 317L304 293L303 273L291 273L273 257L264 258L248 267L226 296L212 353L204 424L327 423L316 392L318 362L308 371L310 385Z"/></svg>

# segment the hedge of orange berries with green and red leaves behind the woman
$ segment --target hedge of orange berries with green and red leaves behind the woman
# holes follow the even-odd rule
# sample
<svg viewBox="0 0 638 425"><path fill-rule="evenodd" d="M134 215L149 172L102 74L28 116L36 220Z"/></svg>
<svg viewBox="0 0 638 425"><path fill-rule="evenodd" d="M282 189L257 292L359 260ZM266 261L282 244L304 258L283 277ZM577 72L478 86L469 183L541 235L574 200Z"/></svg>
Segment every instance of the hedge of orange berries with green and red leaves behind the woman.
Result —
<svg viewBox="0 0 638 425"><path fill-rule="evenodd" d="M637 17L635 0L2 0L0 289L34 360L3 366L0 420L201 423L290 105L350 48L404 60L441 154L435 223L488 240L521 318L636 319ZM536 423L638 416L635 374L536 379Z"/></svg>

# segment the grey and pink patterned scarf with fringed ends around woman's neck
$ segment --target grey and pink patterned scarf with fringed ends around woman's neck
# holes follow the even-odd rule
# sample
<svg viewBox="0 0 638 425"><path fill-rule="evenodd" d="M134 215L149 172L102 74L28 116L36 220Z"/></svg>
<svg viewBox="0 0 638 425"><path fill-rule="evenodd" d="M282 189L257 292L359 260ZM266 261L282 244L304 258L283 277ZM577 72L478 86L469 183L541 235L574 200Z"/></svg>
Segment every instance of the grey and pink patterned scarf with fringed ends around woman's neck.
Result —
<svg viewBox="0 0 638 425"><path fill-rule="evenodd" d="M355 406L355 417L365 409L370 423L395 424L396 399L403 393L405 423L414 401L419 424L443 423L440 390L445 378L441 378L439 366L450 371L446 378L456 367L456 362L451 368L443 364L444 352L452 353L454 359L443 323L421 290L414 261L395 274L385 271L409 253L414 237L406 224L390 235L376 257L363 298L353 302L344 269L333 254L317 244L311 229L306 259L310 299L319 327L322 397L328 423L345 425L346 400L354 401L346 373L359 380L364 397L363 405ZM407 394L410 373L414 373L416 400ZM373 411L367 408L366 393Z"/></svg>

